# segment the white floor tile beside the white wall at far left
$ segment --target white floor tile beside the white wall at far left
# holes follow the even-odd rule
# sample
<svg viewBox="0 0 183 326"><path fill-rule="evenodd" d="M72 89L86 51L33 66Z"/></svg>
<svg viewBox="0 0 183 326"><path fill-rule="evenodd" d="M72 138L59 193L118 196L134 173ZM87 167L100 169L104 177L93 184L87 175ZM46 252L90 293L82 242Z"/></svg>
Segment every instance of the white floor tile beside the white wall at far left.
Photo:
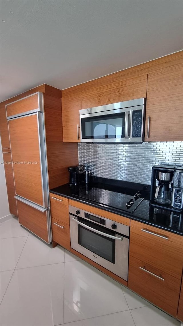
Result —
<svg viewBox="0 0 183 326"><path fill-rule="evenodd" d="M25 237L29 235L29 231L24 229L18 222L16 217L2 223L0 228L0 239Z"/></svg>

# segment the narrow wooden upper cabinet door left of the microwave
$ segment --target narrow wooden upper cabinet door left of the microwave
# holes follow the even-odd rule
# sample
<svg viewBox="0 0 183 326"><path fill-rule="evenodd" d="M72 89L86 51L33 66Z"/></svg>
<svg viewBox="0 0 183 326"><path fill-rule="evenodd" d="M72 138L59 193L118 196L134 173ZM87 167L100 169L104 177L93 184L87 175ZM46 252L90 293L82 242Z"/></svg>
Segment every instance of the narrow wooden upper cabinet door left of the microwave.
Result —
<svg viewBox="0 0 183 326"><path fill-rule="evenodd" d="M62 97L63 142L79 142L81 93Z"/></svg>

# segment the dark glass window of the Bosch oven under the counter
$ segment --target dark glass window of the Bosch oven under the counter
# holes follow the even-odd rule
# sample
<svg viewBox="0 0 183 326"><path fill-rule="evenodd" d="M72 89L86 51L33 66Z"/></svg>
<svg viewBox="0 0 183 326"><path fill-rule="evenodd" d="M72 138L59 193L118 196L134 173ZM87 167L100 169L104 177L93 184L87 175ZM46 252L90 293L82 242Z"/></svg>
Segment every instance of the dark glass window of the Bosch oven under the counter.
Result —
<svg viewBox="0 0 183 326"><path fill-rule="evenodd" d="M83 222L83 220L82 220ZM89 225L90 224L90 225ZM95 227L93 223L87 223L92 228ZM112 232L97 226L97 230L107 234L115 235ZM86 249L92 251L94 254L115 264L115 240L107 238L103 235L87 230L78 225L78 244Z"/></svg>

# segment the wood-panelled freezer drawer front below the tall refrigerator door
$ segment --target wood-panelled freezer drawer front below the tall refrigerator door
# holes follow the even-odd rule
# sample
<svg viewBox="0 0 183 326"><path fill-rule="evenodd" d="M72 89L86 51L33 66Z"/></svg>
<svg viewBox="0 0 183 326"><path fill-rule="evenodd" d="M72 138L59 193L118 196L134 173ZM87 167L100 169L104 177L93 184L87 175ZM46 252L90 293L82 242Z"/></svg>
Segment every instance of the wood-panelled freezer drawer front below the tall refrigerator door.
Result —
<svg viewBox="0 0 183 326"><path fill-rule="evenodd" d="M40 212L34 207L17 200L19 223L49 243L47 212Z"/></svg>

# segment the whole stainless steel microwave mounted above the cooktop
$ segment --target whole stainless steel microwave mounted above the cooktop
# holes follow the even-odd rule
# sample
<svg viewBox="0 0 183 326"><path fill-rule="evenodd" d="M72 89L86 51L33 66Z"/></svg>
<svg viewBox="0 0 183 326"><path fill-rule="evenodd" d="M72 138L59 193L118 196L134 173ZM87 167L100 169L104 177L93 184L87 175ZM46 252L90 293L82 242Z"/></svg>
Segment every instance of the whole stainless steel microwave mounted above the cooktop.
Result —
<svg viewBox="0 0 183 326"><path fill-rule="evenodd" d="M146 98L79 110L81 142L144 141Z"/></svg>

